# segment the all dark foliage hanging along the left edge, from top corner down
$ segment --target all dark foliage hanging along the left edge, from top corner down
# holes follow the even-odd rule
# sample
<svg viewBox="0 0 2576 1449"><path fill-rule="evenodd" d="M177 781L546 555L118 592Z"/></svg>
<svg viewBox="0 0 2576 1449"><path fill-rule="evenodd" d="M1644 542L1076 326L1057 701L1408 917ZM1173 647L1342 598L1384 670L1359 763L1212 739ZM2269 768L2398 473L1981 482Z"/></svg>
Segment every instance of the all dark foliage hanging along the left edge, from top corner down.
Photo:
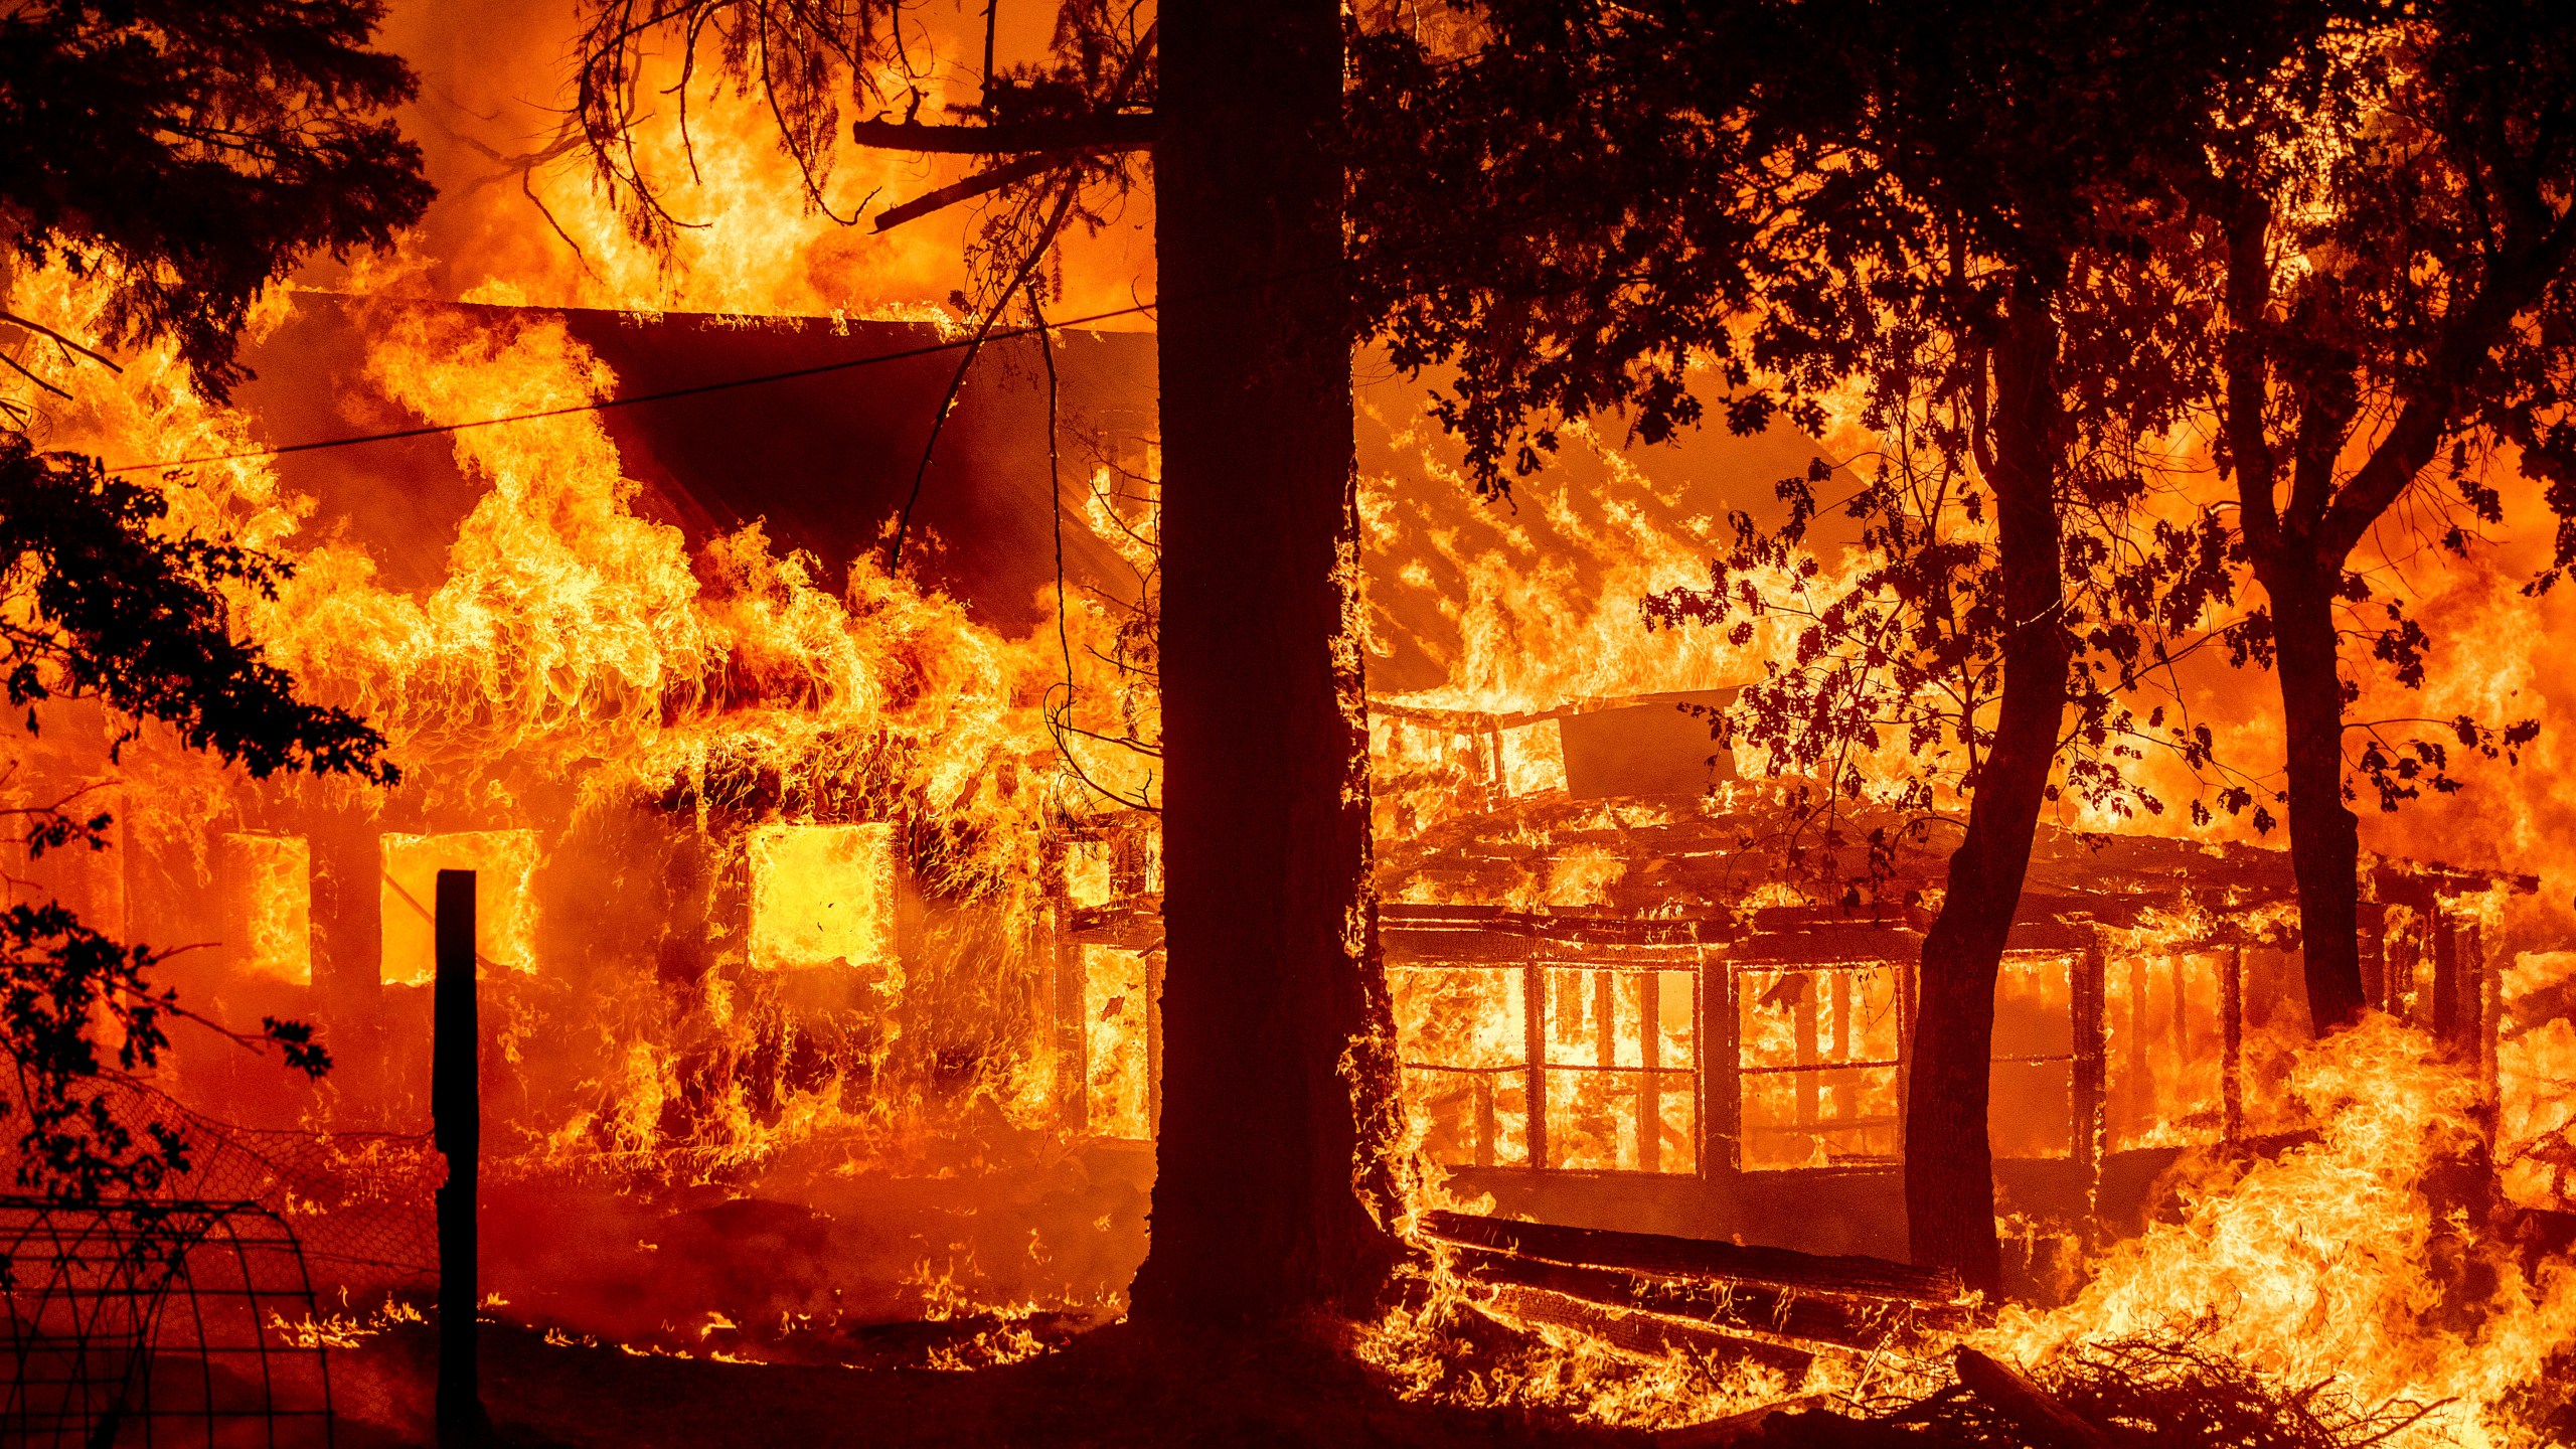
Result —
<svg viewBox="0 0 2576 1449"><path fill-rule="evenodd" d="M371 0L10 8L5 255L103 278L103 343L170 340L222 397L242 376L234 333L260 289L317 250L389 242L428 204L420 157L384 116L412 95L410 70L366 49L379 15ZM13 312L0 325L98 358ZM299 699L286 670L232 634L227 590L273 596L289 575L281 559L175 534L157 487L39 449L23 431L33 405L0 407L0 678L28 735L52 706L82 701L118 722L111 758L160 724L252 776L394 781L376 730ZM10 815L28 859L111 846L113 817L77 792ZM0 1098L0 1114L26 1119L18 1189L95 1201L149 1194L185 1168L185 1142L131 1132L106 1083L160 1062L173 1018L276 1047L307 1075L330 1067L309 1026L268 1018L245 1034L198 1018L152 985L165 951L113 941L59 900L28 897L28 882L10 887L21 900L0 910L0 1052L15 1098Z"/></svg>

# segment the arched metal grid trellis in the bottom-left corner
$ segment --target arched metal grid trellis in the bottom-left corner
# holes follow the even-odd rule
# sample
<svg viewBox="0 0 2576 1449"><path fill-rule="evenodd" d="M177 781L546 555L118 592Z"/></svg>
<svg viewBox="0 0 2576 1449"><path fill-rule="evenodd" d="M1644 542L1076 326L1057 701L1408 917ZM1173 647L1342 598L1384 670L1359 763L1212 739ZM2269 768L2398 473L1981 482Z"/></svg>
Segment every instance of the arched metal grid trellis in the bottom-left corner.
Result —
<svg viewBox="0 0 2576 1449"><path fill-rule="evenodd" d="M327 1446L294 1227L258 1204L0 1199L0 1441Z"/></svg>

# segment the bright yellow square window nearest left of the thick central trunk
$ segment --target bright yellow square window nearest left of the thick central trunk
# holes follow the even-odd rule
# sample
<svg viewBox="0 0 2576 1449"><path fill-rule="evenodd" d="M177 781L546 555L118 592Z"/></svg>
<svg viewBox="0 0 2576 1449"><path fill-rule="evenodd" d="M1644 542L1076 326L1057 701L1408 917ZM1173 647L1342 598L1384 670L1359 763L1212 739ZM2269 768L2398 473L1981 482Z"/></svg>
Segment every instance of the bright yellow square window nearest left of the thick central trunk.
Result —
<svg viewBox="0 0 2576 1449"><path fill-rule="evenodd" d="M860 967L899 985L894 825L752 830L752 967Z"/></svg>

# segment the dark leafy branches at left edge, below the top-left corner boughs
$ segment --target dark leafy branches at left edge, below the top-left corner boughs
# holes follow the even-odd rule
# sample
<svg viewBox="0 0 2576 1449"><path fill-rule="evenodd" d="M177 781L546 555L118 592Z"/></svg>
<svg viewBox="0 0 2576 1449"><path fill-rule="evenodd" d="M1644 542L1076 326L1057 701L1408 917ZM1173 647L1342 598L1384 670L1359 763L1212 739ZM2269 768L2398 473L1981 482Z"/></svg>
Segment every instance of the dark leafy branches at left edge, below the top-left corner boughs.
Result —
<svg viewBox="0 0 2576 1449"><path fill-rule="evenodd" d="M160 490L0 431L0 673L28 735L41 730L41 706L93 701L124 719L111 755L157 722L252 776L283 768L392 784L397 771L376 730L296 699L294 678L232 637L224 588L268 593L286 565L170 536L165 518ZM23 822L28 859L113 843L113 817L82 810L77 797L10 815ZM26 1114L15 1186L98 1201L152 1191L185 1168L185 1142L157 1127L129 1132L100 1080L111 1065L157 1065L173 1016L273 1044L307 1075L330 1067L299 1021L268 1018L258 1034L237 1034L185 1011L149 980L162 959L152 946L103 936L57 900L0 910L0 1052L18 1075L15 1104L0 1101L0 1114Z"/></svg>

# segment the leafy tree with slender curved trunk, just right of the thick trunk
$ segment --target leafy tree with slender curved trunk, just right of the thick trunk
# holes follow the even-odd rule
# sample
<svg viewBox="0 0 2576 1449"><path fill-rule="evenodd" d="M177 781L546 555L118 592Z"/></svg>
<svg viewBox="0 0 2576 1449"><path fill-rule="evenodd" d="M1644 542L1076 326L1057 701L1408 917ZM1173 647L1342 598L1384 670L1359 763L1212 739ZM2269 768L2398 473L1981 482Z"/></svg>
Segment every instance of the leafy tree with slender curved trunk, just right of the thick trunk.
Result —
<svg viewBox="0 0 2576 1449"><path fill-rule="evenodd" d="M2169 639L2192 619L2159 598L2221 536L2159 523L2141 462L2187 418L2200 345L2151 235L2221 101L2306 83L2287 62L2334 8L1455 10L1455 54L1409 26L1358 52L1352 232L1396 361L1458 369L1437 413L1476 480L1535 472L1592 413L1651 443L1705 407L1819 431L1834 400L1883 438L1855 498L1819 498L1826 469L1788 480L1788 523L1739 516L1710 588L1649 619L1803 614L1736 714L1775 766L1824 776L1801 810L1857 799L1852 755L1880 748L1909 755L1899 804L1965 797L1906 1199L1914 1253L1991 1287L1986 1044L2043 802L2161 807L2125 773L2148 740L2210 766L2187 719L2120 704L2202 645ZM1801 562L1829 505L1875 552L1857 578Z"/></svg>

